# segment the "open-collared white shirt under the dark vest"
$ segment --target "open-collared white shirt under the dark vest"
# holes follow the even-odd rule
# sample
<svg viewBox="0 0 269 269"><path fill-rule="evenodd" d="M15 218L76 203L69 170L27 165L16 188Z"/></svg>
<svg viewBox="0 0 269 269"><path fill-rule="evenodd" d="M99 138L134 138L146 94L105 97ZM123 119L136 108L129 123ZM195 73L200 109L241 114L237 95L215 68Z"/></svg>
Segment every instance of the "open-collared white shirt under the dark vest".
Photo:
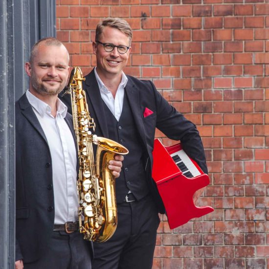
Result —
<svg viewBox="0 0 269 269"><path fill-rule="evenodd" d="M96 72L96 67L94 68L94 74L95 74L103 101L108 106L108 108L110 109L114 117L117 119L117 121L119 121L119 118L122 112L122 107L123 107L124 87L126 86L128 82L127 76L122 72L121 82L116 91L116 95L114 99L112 92L108 90L108 88L105 86L105 84L102 82L102 80L98 76Z"/></svg>

